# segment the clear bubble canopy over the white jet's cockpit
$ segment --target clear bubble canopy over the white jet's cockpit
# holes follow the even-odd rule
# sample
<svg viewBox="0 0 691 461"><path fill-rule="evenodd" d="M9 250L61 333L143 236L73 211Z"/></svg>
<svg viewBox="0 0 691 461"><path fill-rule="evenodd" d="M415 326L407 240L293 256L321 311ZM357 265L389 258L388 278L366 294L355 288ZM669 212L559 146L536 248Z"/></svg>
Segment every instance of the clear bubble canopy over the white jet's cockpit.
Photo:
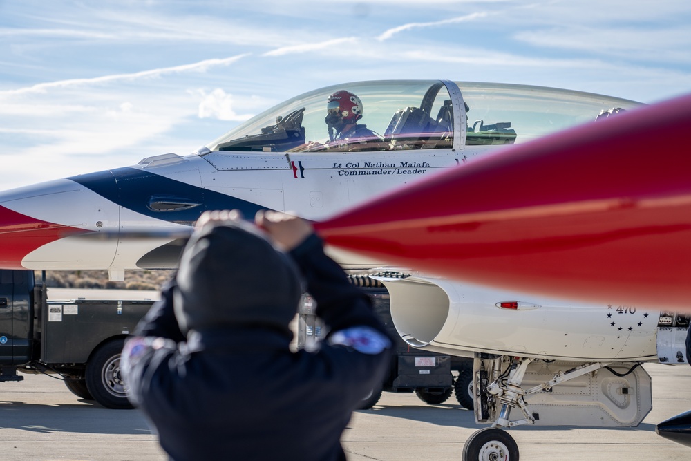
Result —
<svg viewBox="0 0 691 461"><path fill-rule="evenodd" d="M357 128L339 132L326 115L330 95L340 90L359 98L357 110L362 117ZM206 148L318 152L513 144L596 120L603 111L618 112L636 105L614 97L538 86L433 80L355 82L296 96L252 117Z"/></svg>

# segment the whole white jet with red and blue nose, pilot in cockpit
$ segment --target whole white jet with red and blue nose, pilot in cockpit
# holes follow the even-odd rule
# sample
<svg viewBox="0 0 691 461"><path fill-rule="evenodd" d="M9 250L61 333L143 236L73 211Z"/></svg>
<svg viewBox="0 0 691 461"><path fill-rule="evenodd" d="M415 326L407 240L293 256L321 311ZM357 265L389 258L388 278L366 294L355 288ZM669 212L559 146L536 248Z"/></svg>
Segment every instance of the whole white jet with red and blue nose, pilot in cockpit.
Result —
<svg viewBox="0 0 691 461"><path fill-rule="evenodd" d="M395 81L321 88L187 156L167 153L1 193L0 267L106 269L112 279L125 270L171 268L184 244L175 233L188 232L202 211L239 209L253 216L258 209L291 210L325 220L436 172L496 155L505 144L587 122L606 124L639 105L508 84ZM512 194L521 181L516 176L495 187ZM131 238L138 233L149 238ZM383 265L358 254L336 257L349 269ZM638 364L686 361L680 344L688 317L675 312L563 301L426 273L380 279L408 344L474 360L476 419L493 428L468 440L464 459L518 458L518 446L500 427L636 426L652 406L650 377ZM518 418L512 419L512 408Z"/></svg>

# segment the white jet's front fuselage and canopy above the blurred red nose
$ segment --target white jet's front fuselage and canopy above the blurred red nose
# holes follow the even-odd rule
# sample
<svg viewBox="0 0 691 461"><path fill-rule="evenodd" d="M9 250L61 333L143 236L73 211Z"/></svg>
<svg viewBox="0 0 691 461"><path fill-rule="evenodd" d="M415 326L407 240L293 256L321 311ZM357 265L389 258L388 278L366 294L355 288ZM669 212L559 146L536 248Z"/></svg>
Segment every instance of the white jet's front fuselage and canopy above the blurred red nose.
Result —
<svg viewBox="0 0 691 461"><path fill-rule="evenodd" d="M189 155L0 193L0 266L125 270L176 265L171 238L211 209L323 220L373 196L636 102L553 88L449 81L357 82L298 95ZM366 129L360 127L366 125ZM520 183L521 178L515 178ZM507 187L507 185L496 185ZM473 201L477 198L458 197ZM345 258L346 267L368 261Z"/></svg>

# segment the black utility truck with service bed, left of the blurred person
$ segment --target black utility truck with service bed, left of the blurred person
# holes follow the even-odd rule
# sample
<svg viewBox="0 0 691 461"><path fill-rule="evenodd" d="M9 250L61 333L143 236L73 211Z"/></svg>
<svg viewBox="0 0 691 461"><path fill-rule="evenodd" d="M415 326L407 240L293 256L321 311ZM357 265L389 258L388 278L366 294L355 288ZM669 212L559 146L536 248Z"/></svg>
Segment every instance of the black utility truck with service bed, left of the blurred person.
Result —
<svg viewBox="0 0 691 461"><path fill-rule="evenodd" d="M0 270L0 382L23 380L18 371L46 373L77 397L131 408L120 351L154 300L49 300L47 293L33 271Z"/></svg>

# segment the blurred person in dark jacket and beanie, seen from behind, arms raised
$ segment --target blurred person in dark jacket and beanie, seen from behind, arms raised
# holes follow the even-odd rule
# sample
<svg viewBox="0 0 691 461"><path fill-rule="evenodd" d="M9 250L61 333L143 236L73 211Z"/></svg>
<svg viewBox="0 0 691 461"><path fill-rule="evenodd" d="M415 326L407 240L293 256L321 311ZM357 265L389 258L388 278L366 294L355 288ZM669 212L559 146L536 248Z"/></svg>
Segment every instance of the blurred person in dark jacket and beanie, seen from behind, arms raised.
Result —
<svg viewBox="0 0 691 461"><path fill-rule="evenodd" d="M129 398L173 460L344 460L341 433L381 386L391 340L307 222L234 216L200 218L126 341ZM330 330L312 352L289 348L301 281Z"/></svg>

